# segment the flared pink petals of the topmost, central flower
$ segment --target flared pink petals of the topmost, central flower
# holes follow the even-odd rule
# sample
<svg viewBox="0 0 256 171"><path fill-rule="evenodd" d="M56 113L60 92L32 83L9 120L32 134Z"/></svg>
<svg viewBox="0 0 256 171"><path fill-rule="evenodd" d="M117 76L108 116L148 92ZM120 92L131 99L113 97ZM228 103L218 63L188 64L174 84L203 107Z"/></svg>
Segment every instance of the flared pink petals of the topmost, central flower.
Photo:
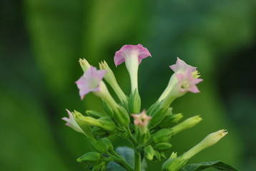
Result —
<svg viewBox="0 0 256 171"><path fill-rule="evenodd" d="M124 45L119 51L115 53L114 64L119 66L124 61L127 61L131 56L137 56L139 63L142 62L143 58L151 56L147 48L144 48L142 44L138 45Z"/></svg>

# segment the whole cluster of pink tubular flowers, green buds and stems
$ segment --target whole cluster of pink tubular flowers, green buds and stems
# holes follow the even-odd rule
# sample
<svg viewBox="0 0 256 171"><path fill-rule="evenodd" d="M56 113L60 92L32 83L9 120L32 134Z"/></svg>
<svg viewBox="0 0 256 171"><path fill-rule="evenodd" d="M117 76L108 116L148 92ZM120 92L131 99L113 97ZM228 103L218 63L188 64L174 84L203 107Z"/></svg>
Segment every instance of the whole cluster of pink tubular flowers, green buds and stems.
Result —
<svg viewBox="0 0 256 171"><path fill-rule="evenodd" d="M172 147L170 140L174 135L192 128L202 120L199 115L196 115L179 123L183 118L182 113L172 113L170 107L172 102L187 92L199 93L197 84L202 81L197 68L187 65L179 58L176 64L169 66L174 73L162 95L159 95L159 98L147 110L141 109L138 68L142 59L149 56L151 57L151 54L141 44L122 46L115 53L115 65L125 63L129 72L131 82L129 96L120 88L106 61L99 63L100 69L98 70L90 66L86 59L79 60L84 74L75 83L79 88L81 99L83 100L85 95L92 92L102 99L105 111L105 113L99 113L87 110L83 115L76 110L74 112L67 110L69 118L63 118L67 121L67 126L86 136L94 150L77 159L78 162L87 164L87 170L107 170L109 162L116 162L124 170L142 170L142 156L147 160L165 159L164 152ZM119 101L114 100L104 82L107 82L114 90ZM208 135L183 155L177 157L177 153L173 153L162 165L162 170L181 170L189 158L205 147L214 145L226 134L226 130L217 131ZM128 163L124 157L114 151L108 138L109 135L119 135L132 143L134 164Z"/></svg>

